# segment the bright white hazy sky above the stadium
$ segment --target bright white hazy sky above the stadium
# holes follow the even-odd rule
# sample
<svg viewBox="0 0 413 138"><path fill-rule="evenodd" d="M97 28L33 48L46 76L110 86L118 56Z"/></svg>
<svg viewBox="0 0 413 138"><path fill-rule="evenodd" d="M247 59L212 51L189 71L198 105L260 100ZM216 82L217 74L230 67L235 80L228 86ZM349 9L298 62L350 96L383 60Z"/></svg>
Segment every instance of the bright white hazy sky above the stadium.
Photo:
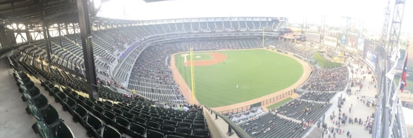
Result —
<svg viewBox="0 0 413 138"><path fill-rule="evenodd" d="M391 11L394 1L390 0ZM360 18L367 29L380 31L386 5L387 0L170 0L152 3L111 0L103 3L99 16L133 20L268 16L286 17L290 23L303 23L306 17L307 23L320 24L321 16L325 15L326 25L335 26L345 24L341 16L349 16ZM412 24L413 1L407 1L402 32L412 33Z"/></svg>

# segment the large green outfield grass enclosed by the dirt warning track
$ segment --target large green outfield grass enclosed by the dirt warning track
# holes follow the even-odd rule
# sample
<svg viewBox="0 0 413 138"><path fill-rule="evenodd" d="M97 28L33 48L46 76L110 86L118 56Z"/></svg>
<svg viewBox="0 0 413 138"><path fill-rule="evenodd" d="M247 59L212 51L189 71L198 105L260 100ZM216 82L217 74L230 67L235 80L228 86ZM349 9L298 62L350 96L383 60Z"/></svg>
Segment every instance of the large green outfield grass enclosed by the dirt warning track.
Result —
<svg viewBox="0 0 413 138"><path fill-rule="evenodd" d="M293 85L303 74L303 67L293 58L263 49L219 52L227 54L225 64L195 67L195 96L208 107L228 106L277 92ZM191 87L190 67L185 67L183 61L181 54L175 55L175 65Z"/></svg>

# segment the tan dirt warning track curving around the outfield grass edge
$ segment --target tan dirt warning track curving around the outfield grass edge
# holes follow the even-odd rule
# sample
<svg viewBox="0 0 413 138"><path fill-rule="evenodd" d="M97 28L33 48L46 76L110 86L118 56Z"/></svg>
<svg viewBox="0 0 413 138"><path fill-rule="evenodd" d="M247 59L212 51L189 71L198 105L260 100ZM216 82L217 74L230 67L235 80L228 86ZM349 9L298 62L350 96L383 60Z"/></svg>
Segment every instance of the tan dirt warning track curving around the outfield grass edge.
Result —
<svg viewBox="0 0 413 138"><path fill-rule="evenodd" d="M304 58L304 57L301 57L301 56L299 56L299 55L297 55L297 54L294 54L294 53L290 53L290 52L287 52L287 51L280 51L280 50L273 49L273 48L265 48L265 49L267 49L267 50L273 50L273 51L280 52L280 53L284 53L284 54L288 54L288 55L292 55L292 56L294 56L294 57L298 57L299 59L301 59L301 60L303 60L303 61L306 61L306 62L310 65L311 70L313 70L313 66L312 66L311 63L310 63L310 60L307 60L307 59ZM312 73L312 71L311 71L311 73ZM310 73L309 77L311 76L311 73ZM306 80L304 80L304 82L306 82L309 77L307 77ZM301 85L298 86L298 87L301 87ZM224 114L224 113L243 112L243 111L247 111L247 110L249 110L249 109L251 109L251 108L254 108L254 107L259 107L259 106L264 106L264 105L267 105L267 104L275 103L275 102L277 102L277 101L280 100L280 99L284 99L285 97L290 97L290 96L296 91L296 89L297 89L298 87L296 87L296 88L294 88L294 89L292 89L292 90L289 90L289 91L287 91L287 92L284 92L284 93L282 93L282 94L278 94L278 95L275 96L275 97L271 97L271 98L268 98L268 99L266 99L266 100L260 101L260 102L258 102L258 103L254 103L254 104L251 104L251 105L248 105L248 106L242 106L242 107L234 108L234 109L230 109L230 110L217 111L217 113Z"/></svg>

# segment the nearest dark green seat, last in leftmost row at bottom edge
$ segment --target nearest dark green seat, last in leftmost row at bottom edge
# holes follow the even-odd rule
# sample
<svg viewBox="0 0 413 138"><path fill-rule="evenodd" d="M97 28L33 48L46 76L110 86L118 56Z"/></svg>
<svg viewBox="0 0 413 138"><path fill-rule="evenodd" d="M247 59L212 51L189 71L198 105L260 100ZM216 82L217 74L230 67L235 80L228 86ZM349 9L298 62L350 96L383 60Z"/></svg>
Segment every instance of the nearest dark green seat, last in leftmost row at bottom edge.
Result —
<svg viewBox="0 0 413 138"><path fill-rule="evenodd" d="M63 121L52 126L36 121L36 131L40 138L74 138L73 132Z"/></svg>

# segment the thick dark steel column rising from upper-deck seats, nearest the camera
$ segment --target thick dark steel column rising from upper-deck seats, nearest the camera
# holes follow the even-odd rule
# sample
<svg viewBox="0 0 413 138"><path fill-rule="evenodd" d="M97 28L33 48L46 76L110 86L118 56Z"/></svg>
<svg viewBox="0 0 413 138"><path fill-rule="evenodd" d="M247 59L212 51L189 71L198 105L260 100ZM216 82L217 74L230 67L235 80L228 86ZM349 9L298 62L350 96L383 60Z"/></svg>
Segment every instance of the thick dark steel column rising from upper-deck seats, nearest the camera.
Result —
<svg viewBox="0 0 413 138"><path fill-rule="evenodd" d="M88 84L89 97L99 99L95 60L92 47L92 30L90 25L88 0L77 0L79 27L82 39L83 58L85 61L85 73Z"/></svg>

